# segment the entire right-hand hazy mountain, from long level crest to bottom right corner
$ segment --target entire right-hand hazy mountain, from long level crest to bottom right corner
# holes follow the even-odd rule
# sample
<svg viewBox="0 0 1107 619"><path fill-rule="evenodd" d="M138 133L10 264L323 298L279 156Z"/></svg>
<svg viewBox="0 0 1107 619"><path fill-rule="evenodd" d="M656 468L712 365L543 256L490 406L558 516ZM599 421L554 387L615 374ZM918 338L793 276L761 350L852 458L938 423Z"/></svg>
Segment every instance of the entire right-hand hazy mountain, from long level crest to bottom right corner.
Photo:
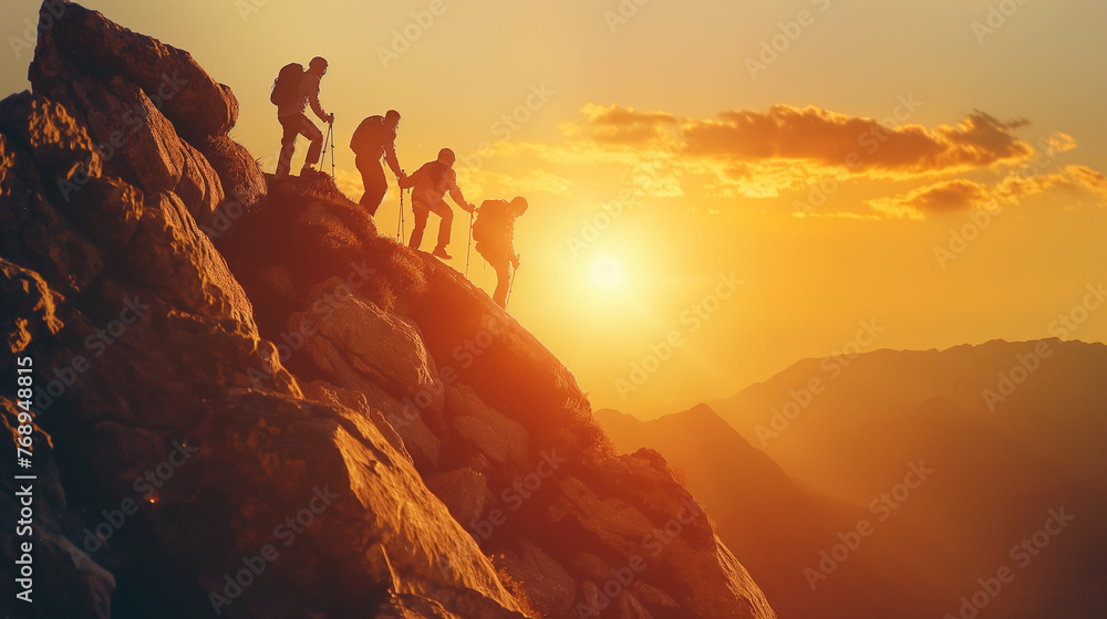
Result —
<svg viewBox="0 0 1107 619"><path fill-rule="evenodd" d="M946 585L961 595L1018 565L993 612L1107 612L1107 346L997 340L805 359L714 406L789 474L842 501L866 505L925 462L933 476L896 515L956 557L963 569ZM1075 520L1022 568L1012 547L1062 506Z"/></svg>

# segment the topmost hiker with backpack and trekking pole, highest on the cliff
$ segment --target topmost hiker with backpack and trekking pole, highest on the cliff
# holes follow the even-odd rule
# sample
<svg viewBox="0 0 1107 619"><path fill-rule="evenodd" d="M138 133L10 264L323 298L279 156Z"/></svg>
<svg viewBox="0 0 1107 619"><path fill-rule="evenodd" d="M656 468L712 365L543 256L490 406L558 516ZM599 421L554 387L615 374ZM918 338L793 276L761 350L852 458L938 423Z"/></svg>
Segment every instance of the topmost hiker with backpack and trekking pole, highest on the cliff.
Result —
<svg viewBox="0 0 1107 619"><path fill-rule="evenodd" d="M300 176L306 171L315 171L312 166L319 162L319 155L323 149L323 133L308 119L304 112L310 104L311 111L320 120L334 123L334 115L323 112L319 105L319 80L325 74L327 61L315 56L308 63L307 71L300 64L287 64L273 81L273 92L269 95L269 101L277 105L277 119L284 129L280 138L280 160L277 161L279 177L288 175L289 168L292 167L292 153L296 150L296 138L299 135L311 140Z"/></svg>

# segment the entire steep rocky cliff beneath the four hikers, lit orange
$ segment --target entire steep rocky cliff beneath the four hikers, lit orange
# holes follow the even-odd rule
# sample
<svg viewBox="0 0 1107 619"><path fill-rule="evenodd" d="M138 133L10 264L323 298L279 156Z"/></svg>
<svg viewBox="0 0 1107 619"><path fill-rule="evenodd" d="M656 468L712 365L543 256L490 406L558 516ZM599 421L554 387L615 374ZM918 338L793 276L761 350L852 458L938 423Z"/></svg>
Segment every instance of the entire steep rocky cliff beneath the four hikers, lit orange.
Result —
<svg viewBox="0 0 1107 619"><path fill-rule="evenodd" d="M0 102L6 523L37 475L33 534L0 531L6 565L33 542L17 612L774 617L487 295L330 181L267 178L187 52L43 12L33 94Z"/></svg>

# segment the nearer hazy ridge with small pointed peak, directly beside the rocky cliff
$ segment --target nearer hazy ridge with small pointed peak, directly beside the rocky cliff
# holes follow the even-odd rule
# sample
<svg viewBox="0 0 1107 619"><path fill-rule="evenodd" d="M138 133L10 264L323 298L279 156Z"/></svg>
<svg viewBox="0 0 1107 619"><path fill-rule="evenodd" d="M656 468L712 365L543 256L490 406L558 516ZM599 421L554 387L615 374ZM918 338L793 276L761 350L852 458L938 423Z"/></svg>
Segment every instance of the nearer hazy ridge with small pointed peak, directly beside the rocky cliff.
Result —
<svg viewBox="0 0 1107 619"><path fill-rule="evenodd" d="M952 555L900 518L879 522L866 508L800 487L706 405L646 422L613 410L596 417L621 452L655 449L685 476L783 619L941 616L949 592L934 575L949 569ZM826 579L810 579L805 569L818 570L820 553L861 520L875 532Z"/></svg>

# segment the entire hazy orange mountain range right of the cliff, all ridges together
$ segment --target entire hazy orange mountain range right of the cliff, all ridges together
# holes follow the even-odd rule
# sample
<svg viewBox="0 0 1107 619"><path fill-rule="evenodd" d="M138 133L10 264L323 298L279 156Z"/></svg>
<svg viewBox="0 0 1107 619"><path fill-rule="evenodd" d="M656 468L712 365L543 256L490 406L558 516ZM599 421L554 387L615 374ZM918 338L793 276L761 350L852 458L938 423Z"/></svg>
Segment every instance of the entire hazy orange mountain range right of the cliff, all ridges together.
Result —
<svg viewBox="0 0 1107 619"><path fill-rule="evenodd" d="M711 407L597 417L683 471L783 619L1107 616L1101 344L805 359Z"/></svg>

